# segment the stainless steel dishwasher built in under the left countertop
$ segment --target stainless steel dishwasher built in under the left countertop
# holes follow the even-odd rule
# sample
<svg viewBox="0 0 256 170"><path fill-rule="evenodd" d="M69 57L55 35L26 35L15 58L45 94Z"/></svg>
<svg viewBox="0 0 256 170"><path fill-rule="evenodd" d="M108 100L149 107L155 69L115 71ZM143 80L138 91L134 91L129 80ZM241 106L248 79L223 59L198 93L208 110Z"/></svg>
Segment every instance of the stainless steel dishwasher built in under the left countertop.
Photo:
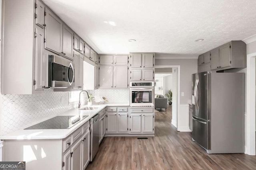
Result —
<svg viewBox="0 0 256 170"><path fill-rule="evenodd" d="M94 156L99 150L99 132L100 132L100 123L99 123L99 114L96 114L90 119L90 161L93 160Z"/></svg>

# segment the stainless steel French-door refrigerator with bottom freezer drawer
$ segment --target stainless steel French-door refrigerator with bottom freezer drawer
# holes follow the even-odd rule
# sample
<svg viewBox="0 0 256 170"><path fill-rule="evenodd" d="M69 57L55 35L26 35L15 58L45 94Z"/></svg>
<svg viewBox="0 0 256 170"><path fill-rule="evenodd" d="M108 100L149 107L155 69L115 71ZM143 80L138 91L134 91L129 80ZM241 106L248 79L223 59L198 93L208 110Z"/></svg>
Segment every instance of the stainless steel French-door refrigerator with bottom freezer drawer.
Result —
<svg viewBox="0 0 256 170"><path fill-rule="evenodd" d="M244 153L244 73L192 74L192 140L207 153Z"/></svg>

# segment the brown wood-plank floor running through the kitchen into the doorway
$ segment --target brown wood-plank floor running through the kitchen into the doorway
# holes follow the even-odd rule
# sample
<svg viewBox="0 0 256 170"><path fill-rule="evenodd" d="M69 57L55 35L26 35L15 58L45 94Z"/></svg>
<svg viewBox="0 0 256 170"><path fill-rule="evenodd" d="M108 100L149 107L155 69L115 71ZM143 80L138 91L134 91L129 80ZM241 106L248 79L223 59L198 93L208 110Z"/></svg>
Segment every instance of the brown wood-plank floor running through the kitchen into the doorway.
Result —
<svg viewBox="0 0 256 170"><path fill-rule="evenodd" d="M86 170L255 170L256 156L207 154L190 132L177 132L171 107L155 113L155 137L105 137Z"/></svg>

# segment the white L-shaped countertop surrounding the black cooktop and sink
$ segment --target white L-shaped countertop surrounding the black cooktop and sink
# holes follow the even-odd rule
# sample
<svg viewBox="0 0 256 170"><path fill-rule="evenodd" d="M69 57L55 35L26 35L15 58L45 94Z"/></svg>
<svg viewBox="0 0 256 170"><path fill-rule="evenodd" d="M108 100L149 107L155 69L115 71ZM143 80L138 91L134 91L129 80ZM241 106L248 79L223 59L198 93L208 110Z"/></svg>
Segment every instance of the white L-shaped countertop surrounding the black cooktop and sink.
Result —
<svg viewBox="0 0 256 170"><path fill-rule="evenodd" d="M67 112L64 112L64 113L61 113L58 115L51 116L49 118L46 118L46 119L40 121L40 122L43 122L43 121L53 118L55 116L81 116L81 115L88 116L88 117L84 118L83 120L81 120L80 122L78 122L73 127L71 127L70 129L30 129L30 130L20 129L15 132L11 132L9 134L0 136L0 140L63 139L63 138L66 138L67 136L69 136L72 132L74 132L77 128L82 126L84 123L89 121L90 118L92 118L95 114L100 112L106 106L129 106L129 103L107 103L107 104L98 104L98 105L93 105L93 106L97 107L97 109L95 109L95 110L78 110L78 108L76 108L76 109L69 110ZM83 108L83 107L86 107L86 106L82 106L81 108ZM34 124L38 124L40 122L36 122ZM32 126L34 124L31 124L30 126Z"/></svg>

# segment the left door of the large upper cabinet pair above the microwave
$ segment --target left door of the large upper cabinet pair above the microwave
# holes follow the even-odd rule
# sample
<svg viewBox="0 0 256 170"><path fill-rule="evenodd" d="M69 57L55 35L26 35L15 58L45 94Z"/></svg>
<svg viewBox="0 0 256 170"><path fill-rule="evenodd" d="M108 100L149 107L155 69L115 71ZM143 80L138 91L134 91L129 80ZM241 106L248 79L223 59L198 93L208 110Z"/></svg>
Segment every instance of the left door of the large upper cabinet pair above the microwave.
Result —
<svg viewBox="0 0 256 170"><path fill-rule="evenodd" d="M50 10L46 10L45 48L62 52L62 21Z"/></svg>

